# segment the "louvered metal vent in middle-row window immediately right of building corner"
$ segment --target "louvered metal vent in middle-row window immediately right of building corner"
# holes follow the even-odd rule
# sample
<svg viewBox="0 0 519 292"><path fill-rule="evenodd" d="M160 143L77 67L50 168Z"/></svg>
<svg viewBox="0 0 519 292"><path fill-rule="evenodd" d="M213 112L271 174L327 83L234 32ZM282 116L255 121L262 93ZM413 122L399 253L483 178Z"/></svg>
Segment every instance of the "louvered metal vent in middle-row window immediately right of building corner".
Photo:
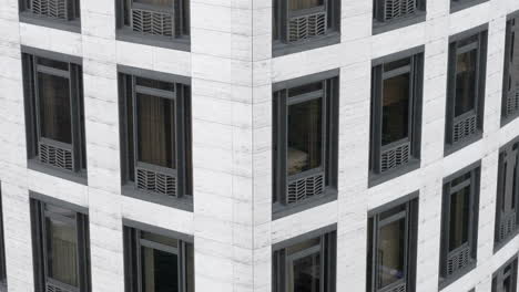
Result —
<svg viewBox="0 0 519 292"><path fill-rule="evenodd" d="M289 181L286 202L294 204L322 194L324 194L324 174L320 173Z"/></svg>

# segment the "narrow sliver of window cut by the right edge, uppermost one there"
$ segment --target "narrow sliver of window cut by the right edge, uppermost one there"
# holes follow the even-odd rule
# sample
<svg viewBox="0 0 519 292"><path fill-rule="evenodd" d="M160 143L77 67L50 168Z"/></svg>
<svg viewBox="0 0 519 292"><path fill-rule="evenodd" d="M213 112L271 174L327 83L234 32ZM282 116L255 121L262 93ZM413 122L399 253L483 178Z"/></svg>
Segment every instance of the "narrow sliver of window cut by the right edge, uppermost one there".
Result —
<svg viewBox="0 0 519 292"><path fill-rule="evenodd" d="M505 75L502 84L501 119L509 122L519 114L519 15L507 21L505 45Z"/></svg>

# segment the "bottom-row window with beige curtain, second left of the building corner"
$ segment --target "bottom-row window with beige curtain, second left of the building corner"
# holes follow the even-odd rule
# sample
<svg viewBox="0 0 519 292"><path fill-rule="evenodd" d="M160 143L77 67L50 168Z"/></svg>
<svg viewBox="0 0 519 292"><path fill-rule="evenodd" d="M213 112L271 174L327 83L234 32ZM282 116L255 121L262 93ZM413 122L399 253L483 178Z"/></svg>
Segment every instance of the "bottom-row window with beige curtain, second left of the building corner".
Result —
<svg viewBox="0 0 519 292"><path fill-rule="evenodd" d="M34 290L91 291L88 215L31 199L31 225Z"/></svg>

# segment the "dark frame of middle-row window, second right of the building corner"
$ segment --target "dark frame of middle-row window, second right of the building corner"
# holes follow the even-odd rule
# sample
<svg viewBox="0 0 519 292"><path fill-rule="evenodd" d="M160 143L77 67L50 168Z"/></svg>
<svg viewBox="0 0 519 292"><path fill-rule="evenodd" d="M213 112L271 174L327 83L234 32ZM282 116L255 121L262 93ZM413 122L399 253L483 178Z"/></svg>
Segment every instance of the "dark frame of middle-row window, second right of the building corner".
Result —
<svg viewBox="0 0 519 292"><path fill-rule="evenodd" d="M379 185L420 166L421 108L424 86L424 46L417 46L396 54L383 56L372 62L372 117L369 147L369 187ZM384 72L384 65L409 59L409 65L398 66ZM408 137L405 140L381 145L384 81L398 75L409 74ZM394 167L383 168L383 155L408 144L408 161Z"/></svg>

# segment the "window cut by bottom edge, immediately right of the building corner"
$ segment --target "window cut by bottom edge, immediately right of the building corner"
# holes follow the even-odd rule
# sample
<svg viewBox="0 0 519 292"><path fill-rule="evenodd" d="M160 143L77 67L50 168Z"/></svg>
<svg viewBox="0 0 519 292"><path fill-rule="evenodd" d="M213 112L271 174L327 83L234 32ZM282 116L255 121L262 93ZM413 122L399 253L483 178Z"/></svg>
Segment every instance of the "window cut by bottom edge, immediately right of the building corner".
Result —
<svg viewBox="0 0 519 292"><path fill-rule="evenodd" d="M335 292L336 232L274 247L273 292Z"/></svg>

